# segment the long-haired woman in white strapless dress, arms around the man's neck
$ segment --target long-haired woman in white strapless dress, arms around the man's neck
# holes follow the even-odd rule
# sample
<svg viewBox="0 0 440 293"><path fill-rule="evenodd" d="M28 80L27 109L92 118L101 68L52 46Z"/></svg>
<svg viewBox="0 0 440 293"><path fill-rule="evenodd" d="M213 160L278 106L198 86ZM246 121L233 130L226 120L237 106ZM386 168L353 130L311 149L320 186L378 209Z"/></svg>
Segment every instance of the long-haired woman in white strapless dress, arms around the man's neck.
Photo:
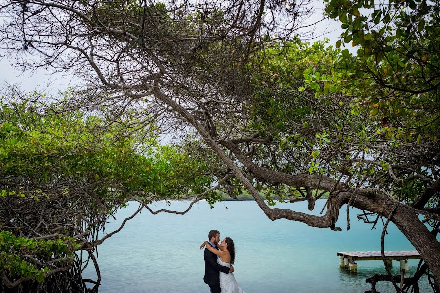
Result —
<svg viewBox="0 0 440 293"><path fill-rule="evenodd" d="M200 249L205 245L209 251L219 256L217 258L217 263L220 265L230 268L231 265L234 264L235 248L234 241L231 238L226 237L220 244L217 244L217 248L220 250L213 248L208 241L205 241ZM246 293L237 283L233 273L225 274L224 272L220 272L219 277L221 293Z"/></svg>

